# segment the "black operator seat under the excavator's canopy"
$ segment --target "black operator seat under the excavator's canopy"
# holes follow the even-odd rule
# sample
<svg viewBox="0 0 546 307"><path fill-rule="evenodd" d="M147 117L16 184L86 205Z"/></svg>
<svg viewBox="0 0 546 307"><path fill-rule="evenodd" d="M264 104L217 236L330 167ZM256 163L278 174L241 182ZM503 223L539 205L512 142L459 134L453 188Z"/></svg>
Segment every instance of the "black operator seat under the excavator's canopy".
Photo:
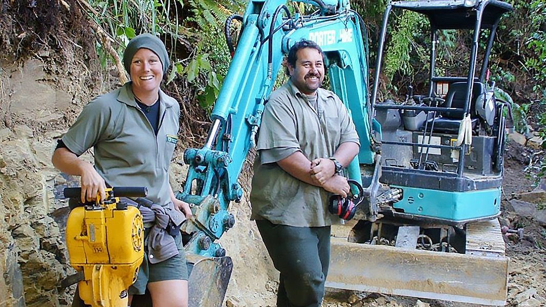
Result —
<svg viewBox="0 0 546 307"><path fill-rule="evenodd" d="M459 132L462 116L465 113L464 108L467 86L467 82L453 82L449 85L446 102L443 103L442 107L456 108L458 110L438 112L438 116L429 120L427 125L429 129L432 126L432 120L434 120L433 129L436 133L456 134ZM470 119L472 121L472 127L476 126L478 123L476 99L483 93L485 93L485 85L482 82L474 82L472 95L470 96Z"/></svg>

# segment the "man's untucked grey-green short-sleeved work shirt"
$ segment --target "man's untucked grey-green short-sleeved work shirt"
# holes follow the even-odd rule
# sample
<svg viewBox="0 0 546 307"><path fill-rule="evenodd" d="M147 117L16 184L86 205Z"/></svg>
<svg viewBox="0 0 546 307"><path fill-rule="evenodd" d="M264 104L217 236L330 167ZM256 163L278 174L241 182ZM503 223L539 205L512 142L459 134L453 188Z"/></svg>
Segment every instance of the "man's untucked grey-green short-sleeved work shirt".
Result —
<svg viewBox="0 0 546 307"><path fill-rule="evenodd" d="M295 227L339 223L327 209L329 192L284 172L276 161L301 151L308 160L328 158L345 142L359 143L354 123L341 99L318 88L316 108L292 82L271 93L258 134L252 178L251 220ZM262 155L272 149L277 154ZM278 156L279 150L285 154ZM271 159L277 155L277 159Z"/></svg>

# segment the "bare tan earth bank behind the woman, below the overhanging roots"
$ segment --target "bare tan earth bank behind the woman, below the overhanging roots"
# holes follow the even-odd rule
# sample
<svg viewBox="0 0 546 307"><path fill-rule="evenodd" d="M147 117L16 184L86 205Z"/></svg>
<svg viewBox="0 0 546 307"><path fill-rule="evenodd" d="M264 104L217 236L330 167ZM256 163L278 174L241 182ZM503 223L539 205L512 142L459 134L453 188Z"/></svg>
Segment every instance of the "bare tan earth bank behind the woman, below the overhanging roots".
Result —
<svg viewBox="0 0 546 307"><path fill-rule="evenodd" d="M0 266L0 274L5 276L0 279L0 295L7 299L0 305L66 305L73 288L60 292L58 282L72 269L68 268L62 227L68 209L60 197L63 186L78 181L60 174L50 157L56 139L82 106L107 89L88 82L90 69L69 63L61 67L49 57L32 57L1 69L0 217L5 223L0 225L0 250L4 251L0 263L6 265ZM187 172L183 147L177 148L172 164L174 188L181 187ZM92 158L89 154L84 157ZM250 221L246 196L232 206L237 222L221 239L234 260L227 304L273 304L276 273Z"/></svg>

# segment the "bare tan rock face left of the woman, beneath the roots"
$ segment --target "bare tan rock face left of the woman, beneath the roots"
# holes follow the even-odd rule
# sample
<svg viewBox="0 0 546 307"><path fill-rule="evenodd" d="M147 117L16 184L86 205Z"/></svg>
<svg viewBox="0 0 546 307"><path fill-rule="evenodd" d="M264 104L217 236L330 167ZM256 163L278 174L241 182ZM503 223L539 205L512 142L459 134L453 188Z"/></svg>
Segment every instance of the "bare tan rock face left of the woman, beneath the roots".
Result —
<svg viewBox="0 0 546 307"><path fill-rule="evenodd" d="M66 219L68 211L60 210L66 204L55 199L59 177L50 159L54 139L90 96L81 88L93 86L87 84L88 75L70 70L60 74L60 69L48 58L20 66L0 64L1 306L61 306L71 301L58 287L72 269L55 220Z"/></svg>

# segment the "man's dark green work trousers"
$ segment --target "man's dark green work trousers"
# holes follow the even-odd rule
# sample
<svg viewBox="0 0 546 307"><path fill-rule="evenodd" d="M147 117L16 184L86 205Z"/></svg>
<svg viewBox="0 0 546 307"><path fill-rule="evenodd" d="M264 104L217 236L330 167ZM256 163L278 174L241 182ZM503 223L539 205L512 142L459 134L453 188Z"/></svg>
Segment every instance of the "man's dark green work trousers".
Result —
<svg viewBox="0 0 546 307"><path fill-rule="evenodd" d="M277 307L319 307L330 264L330 226L293 227L257 220L275 268L281 272Z"/></svg>

